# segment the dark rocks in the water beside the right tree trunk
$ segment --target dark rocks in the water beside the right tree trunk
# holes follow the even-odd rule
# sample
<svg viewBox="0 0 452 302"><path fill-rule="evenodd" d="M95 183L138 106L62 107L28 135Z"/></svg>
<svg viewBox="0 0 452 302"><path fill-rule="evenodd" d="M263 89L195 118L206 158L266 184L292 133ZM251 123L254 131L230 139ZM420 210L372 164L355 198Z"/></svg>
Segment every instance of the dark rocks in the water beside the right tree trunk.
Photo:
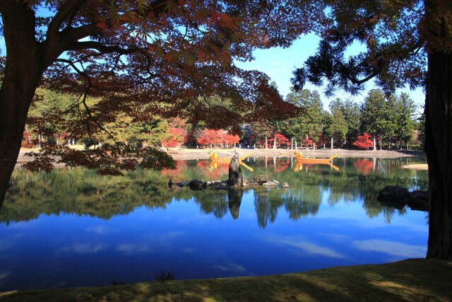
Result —
<svg viewBox="0 0 452 302"><path fill-rule="evenodd" d="M381 204L396 209L402 209L408 204L410 209L429 211L429 194L426 191L408 192L404 187L386 186L377 199Z"/></svg>

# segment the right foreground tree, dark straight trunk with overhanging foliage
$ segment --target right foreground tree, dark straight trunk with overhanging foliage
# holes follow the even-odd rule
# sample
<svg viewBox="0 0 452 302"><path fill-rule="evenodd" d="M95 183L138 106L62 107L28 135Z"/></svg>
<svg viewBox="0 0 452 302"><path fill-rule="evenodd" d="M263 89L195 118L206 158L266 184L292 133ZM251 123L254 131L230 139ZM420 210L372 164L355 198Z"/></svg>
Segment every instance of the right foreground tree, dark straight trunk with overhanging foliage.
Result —
<svg viewBox="0 0 452 302"><path fill-rule="evenodd" d="M321 1L326 8L318 52L295 71L326 93L364 91L374 79L386 94L406 85L426 91L429 163L428 258L452 259L452 1ZM347 56L360 42L365 50Z"/></svg>

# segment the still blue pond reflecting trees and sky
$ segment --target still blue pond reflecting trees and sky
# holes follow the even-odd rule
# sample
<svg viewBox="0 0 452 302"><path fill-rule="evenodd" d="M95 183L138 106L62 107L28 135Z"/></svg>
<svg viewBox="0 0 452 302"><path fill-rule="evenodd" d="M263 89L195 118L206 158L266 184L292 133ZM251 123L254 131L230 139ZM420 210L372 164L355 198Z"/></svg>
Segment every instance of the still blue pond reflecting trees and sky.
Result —
<svg viewBox="0 0 452 302"><path fill-rule="evenodd" d="M220 180L227 165L180 161L177 170L100 177L82 168L16 169L0 211L0 291L280 274L424 257L428 216L382 207L386 185L427 190L415 158L247 158L290 188L199 190L167 182ZM252 171L251 171L252 170Z"/></svg>

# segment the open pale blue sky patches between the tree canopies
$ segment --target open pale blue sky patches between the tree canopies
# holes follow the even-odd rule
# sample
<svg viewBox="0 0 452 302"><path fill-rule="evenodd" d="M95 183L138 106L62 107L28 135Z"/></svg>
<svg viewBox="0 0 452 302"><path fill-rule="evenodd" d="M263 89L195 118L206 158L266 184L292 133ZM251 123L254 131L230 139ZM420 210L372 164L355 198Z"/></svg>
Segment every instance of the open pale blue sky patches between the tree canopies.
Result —
<svg viewBox="0 0 452 302"><path fill-rule="evenodd" d="M316 53L317 46L319 45L320 38L316 35L304 35L296 40L291 47L282 48L282 47L274 47L269 50L256 50L254 51L254 57L256 58L252 62L237 62L237 66L242 67L243 69L255 69L258 71L263 71L268 76L270 76L271 81L275 81L280 91L280 94L285 97L288 93L290 93L290 87L292 84L290 83L290 78L292 78L292 71L295 70L296 67L303 66L304 62L311 55ZM355 54L362 50L361 45L352 45L348 53ZM350 98L357 103L361 103L367 95L367 91L372 88L376 88L374 83L371 81L367 83L367 90L363 92L361 95L350 95L348 93L339 92L332 98L326 98L323 95L323 88L316 87L311 83L307 83L304 88L307 88L311 91L316 90L319 91L322 95L323 106L328 108L328 104L331 100L335 98L341 98L345 100L345 98ZM403 90L398 91L405 92L410 95L412 100L415 101L416 105L422 107L419 111L423 111L425 95L422 92L422 89L418 88L415 91L410 91L409 88L405 88Z"/></svg>

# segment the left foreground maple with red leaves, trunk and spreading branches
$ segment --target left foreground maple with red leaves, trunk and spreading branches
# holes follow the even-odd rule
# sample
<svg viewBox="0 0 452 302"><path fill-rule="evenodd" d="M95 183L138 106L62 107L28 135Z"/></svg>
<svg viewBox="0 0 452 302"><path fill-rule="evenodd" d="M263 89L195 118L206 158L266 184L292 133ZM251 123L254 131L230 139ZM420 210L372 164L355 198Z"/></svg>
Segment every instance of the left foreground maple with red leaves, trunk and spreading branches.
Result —
<svg viewBox="0 0 452 302"><path fill-rule="evenodd" d="M73 110L84 113L68 129L75 137L107 131L103 125L118 112L134 120L183 112L189 123L208 120L238 131L239 110L262 113L253 108L261 107L256 95L268 95L268 78L237 68L234 60L252 59L257 47L287 47L321 13L315 3L283 0L0 1L6 45L0 60L1 202L37 86L77 95ZM205 101L214 94L234 104L215 112L222 118L213 119L215 108ZM100 101L90 106L88 97ZM284 107L278 98L261 101ZM52 163L57 155L102 173L120 173L139 160L146 167L173 165L156 149L124 144L83 152L53 148L38 157Z"/></svg>

